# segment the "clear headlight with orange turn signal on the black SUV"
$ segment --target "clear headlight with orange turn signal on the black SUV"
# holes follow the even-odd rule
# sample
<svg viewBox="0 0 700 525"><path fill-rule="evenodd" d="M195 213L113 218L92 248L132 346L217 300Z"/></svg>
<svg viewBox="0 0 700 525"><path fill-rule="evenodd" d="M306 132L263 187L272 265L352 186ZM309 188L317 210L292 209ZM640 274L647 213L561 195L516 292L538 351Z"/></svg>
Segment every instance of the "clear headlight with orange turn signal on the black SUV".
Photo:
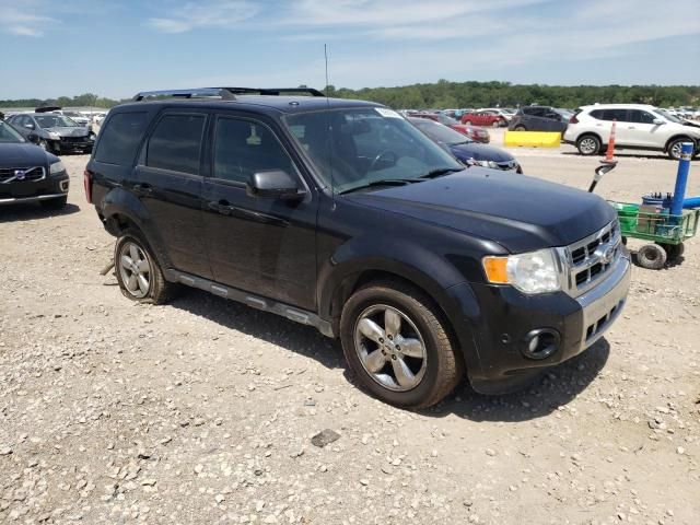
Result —
<svg viewBox="0 0 700 525"><path fill-rule="evenodd" d="M561 289L557 255L553 249L506 257L485 257L483 270L489 282L511 284L526 294L549 293Z"/></svg>

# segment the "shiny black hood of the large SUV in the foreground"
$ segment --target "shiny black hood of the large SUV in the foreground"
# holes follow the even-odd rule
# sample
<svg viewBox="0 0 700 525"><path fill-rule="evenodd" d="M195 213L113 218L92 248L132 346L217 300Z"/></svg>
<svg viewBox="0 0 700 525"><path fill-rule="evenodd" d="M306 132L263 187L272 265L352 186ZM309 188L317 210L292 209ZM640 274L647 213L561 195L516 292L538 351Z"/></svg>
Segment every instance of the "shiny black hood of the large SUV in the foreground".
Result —
<svg viewBox="0 0 700 525"><path fill-rule="evenodd" d="M482 167L345 197L495 241L512 253L569 245L617 217L587 191Z"/></svg>

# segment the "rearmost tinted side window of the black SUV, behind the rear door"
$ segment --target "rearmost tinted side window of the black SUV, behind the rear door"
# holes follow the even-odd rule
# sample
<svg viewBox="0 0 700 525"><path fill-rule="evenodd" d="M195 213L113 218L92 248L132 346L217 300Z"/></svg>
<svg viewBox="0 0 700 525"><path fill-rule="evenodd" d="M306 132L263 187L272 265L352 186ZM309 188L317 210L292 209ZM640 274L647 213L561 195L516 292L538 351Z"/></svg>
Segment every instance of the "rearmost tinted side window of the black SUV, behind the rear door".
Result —
<svg viewBox="0 0 700 525"><path fill-rule="evenodd" d="M131 165L147 126L145 112L113 115L100 132L95 161Z"/></svg>

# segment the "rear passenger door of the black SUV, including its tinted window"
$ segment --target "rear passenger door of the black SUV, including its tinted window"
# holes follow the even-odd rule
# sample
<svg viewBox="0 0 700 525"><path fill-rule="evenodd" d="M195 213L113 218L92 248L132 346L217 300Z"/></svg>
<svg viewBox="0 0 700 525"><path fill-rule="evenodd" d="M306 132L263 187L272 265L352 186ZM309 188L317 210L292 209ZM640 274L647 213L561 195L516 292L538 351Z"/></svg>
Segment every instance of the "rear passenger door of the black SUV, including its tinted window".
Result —
<svg viewBox="0 0 700 525"><path fill-rule="evenodd" d="M135 168L133 191L147 208L174 268L211 278L201 214L206 112L159 115Z"/></svg>

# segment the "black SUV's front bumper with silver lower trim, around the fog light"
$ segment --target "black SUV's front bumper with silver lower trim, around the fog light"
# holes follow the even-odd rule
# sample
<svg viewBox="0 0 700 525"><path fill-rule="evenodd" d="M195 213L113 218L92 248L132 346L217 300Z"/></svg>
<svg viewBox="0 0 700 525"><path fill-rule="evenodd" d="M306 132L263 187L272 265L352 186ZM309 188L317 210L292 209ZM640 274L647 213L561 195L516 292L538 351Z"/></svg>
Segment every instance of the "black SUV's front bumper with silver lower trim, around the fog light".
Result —
<svg viewBox="0 0 700 525"><path fill-rule="evenodd" d="M512 287L471 284L480 306L476 319L469 315L476 355L465 354L474 389L482 394L520 389L593 346L622 312L630 273L625 253L604 280L575 299L564 292L527 296ZM553 334L557 341L556 350L541 359L527 352L533 334L540 330Z"/></svg>

